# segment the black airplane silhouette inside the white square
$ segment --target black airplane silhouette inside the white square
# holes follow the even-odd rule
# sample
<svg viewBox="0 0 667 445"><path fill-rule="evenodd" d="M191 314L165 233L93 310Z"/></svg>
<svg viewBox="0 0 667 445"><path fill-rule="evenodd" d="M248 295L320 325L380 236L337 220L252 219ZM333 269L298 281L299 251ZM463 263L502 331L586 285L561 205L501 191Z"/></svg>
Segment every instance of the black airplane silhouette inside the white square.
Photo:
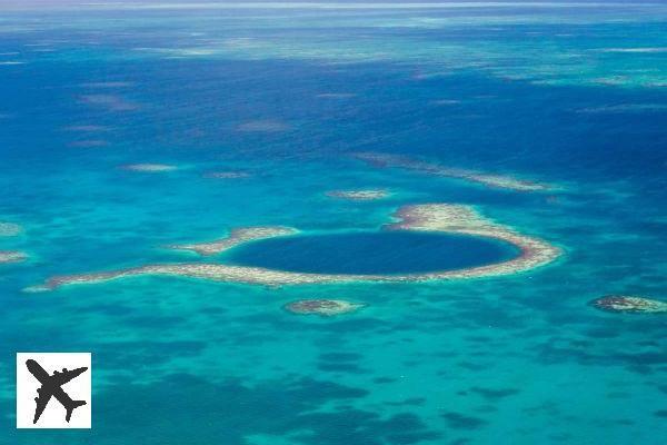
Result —
<svg viewBox="0 0 667 445"><path fill-rule="evenodd" d="M47 408L51 396L56 397L56 399L60 402L62 406L64 406L64 409L67 409L64 419L68 423L72 417L72 412L74 408L86 405L84 400L72 400L72 398L64 390L62 390L61 386L72 378L80 376L88 370L88 368L83 367L72 370L62 369L62 373L56 370L53 372L53 375L50 376L49 373L47 373L44 368L42 368L39 363L34 362L33 359L27 360L26 366L28 366L30 374L32 374L34 378L42 384L42 386L37 389L38 397L34 397L37 408L34 409L34 419L32 421L32 424L37 424L37 421L39 421L39 417Z"/></svg>

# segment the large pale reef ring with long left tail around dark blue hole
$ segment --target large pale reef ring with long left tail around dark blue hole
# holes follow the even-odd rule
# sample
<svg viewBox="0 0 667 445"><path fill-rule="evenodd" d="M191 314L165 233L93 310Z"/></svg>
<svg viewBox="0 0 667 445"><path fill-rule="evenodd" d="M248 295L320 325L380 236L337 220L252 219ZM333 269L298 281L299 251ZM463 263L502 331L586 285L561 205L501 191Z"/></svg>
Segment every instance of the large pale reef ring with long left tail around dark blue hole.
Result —
<svg viewBox="0 0 667 445"><path fill-rule="evenodd" d="M313 274L277 270L262 267L235 266L217 263L181 263L146 265L116 271L103 271L70 276L57 276L30 291L51 290L60 286L82 283L100 283L139 275L170 275L190 278L259 284L269 286L348 283L348 281L425 281L449 280L517 274L545 266L561 255L561 249L537 237L489 220L474 208L450 204L425 204L400 208L396 222L385 226L386 230L409 230L486 237L512 245L518 254L507 260L452 270L436 270L408 274ZM249 240L293 235L297 230L287 227L251 227L232 230L221 240L191 245L171 246L199 255L216 255Z"/></svg>

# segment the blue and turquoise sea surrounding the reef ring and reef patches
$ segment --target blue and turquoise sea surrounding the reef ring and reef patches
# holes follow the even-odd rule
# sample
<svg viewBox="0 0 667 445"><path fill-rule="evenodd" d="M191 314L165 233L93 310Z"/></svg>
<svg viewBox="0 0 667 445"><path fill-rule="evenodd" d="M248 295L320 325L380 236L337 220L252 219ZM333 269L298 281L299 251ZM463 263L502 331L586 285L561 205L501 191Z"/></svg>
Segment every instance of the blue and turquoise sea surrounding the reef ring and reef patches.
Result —
<svg viewBox="0 0 667 445"><path fill-rule="evenodd" d="M0 221L23 227L0 250L29 255L0 265L0 444L667 441L667 317L588 305L667 300L667 6L3 2L0 98ZM245 175L210 175L229 171ZM391 195L326 196L369 188ZM565 255L446 283L22 291L200 261L165 246L237 227L374 233L422 202L475 206ZM301 298L368 306L282 309ZM32 350L93 353L91 431L14 429L14 354Z"/></svg>

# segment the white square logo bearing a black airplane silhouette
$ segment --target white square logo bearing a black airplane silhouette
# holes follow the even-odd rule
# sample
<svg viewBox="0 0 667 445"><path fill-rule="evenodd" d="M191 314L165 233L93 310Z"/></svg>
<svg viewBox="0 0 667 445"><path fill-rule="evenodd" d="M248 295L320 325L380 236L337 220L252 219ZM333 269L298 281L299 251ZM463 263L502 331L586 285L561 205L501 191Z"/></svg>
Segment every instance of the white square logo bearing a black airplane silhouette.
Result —
<svg viewBox="0 0 667 445"><path fill-rule="evenodd" d="M90 428L90 353L17 354L17 428Z"/></svg>

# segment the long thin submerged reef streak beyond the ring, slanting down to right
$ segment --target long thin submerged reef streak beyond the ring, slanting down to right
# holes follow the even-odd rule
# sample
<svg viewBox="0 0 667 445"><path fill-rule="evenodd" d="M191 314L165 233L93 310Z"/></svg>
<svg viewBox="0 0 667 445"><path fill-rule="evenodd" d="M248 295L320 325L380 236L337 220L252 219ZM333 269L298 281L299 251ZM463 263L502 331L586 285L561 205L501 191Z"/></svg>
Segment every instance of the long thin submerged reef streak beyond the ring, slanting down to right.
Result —
<svg viewBox="0 0 667 445"><path fill-rule="evenodd" d="M438 164L412 159L407 156L380 152L358 152L355 158L361 159L376 167L392 167L414 170L427 175L442 176L481 184L487 187L502 188L516 191L545 191L554 187L547 184L517 179L511 176L490 175L461 168L444 167Z"/></svg>

